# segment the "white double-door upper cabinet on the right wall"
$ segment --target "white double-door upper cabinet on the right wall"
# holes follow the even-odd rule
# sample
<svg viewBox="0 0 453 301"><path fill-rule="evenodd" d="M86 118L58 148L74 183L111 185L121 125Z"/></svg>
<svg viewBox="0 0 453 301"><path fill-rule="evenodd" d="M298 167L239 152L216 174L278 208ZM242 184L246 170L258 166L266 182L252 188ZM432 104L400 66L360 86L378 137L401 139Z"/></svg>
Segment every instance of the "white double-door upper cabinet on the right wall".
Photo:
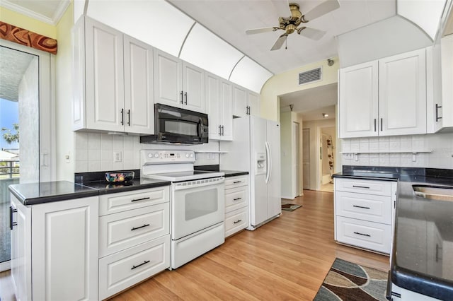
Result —
<svg viewBox="0 0 453 301"><path fill-rule="evenodd" d="M425 49L340 69L339 137L426 133Z"/></svg>

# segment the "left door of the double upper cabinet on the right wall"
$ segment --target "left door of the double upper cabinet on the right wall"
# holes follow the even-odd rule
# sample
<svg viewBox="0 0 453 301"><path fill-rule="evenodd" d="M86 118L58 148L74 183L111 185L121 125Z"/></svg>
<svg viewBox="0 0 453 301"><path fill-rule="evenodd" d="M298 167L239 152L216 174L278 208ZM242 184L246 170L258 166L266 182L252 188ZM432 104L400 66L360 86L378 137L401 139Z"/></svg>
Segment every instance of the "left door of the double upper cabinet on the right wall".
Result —
<svg viewBox="0 0 453 301"><path fill-rule="evenodd" d="M377 68L377 61L370 61L340 69L340 138L378 135Z"/></svg>

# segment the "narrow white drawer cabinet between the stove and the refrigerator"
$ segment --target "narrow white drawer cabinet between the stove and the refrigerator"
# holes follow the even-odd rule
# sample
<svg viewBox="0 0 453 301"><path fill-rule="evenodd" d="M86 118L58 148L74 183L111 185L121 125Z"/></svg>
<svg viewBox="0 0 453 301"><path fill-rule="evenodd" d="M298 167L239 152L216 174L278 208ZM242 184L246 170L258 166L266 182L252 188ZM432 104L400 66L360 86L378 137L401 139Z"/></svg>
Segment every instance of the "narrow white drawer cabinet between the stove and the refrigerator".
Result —
<svg viewBox="0 0 453 301"><path fill-rule="evenodd" d="M225 179L225 237L248 226L248 175Z"/></svg>

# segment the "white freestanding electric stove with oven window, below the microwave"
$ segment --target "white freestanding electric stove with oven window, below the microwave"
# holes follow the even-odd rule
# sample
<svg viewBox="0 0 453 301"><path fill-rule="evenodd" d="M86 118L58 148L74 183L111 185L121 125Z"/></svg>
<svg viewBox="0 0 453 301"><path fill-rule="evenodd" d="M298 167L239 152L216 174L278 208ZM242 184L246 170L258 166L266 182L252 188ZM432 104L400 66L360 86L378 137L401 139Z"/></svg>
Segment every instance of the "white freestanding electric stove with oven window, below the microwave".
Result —
<svg viewBox="0 0 453 301"><path fill-rule="evenodd" d="M142 150L140 163L142 177L171 181L171 268L224 243L224 172L194 170L193 151Z"/></svg>

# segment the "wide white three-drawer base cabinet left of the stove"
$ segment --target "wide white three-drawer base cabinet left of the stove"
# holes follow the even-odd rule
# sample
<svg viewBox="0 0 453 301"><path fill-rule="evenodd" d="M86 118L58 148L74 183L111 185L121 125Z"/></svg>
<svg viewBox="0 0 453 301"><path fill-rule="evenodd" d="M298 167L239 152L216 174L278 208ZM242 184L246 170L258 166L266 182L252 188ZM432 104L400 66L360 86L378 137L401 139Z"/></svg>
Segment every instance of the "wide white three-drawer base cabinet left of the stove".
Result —
<svg viewBox="0 0 453 301"><path fill-rule="evenodd" d="M100 196L99 300L170 267L170 187Z"/></svg>

